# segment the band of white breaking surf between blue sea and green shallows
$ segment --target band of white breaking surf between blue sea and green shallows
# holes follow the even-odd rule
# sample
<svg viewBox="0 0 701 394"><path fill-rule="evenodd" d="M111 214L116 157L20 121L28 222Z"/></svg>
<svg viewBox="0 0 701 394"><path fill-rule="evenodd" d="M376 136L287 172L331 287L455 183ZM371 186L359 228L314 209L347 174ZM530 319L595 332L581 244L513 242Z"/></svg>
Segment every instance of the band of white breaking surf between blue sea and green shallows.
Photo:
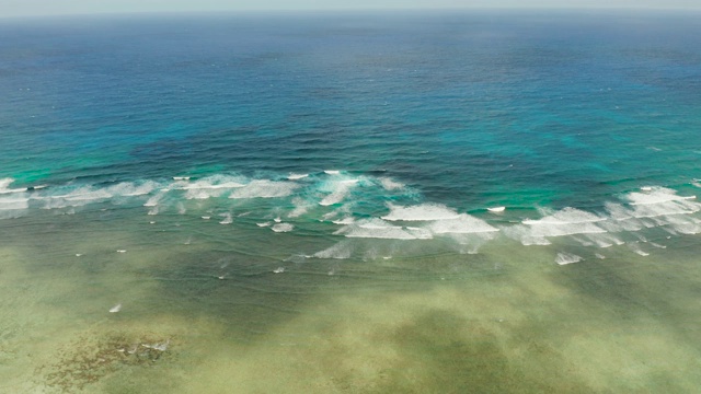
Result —
<svg viewBox="0 0 701 394"><path fill-rule="evenodd" d="M250 213L251 219L234 221L231 213L223 213L218 221L253 229L267 227L275 232L295 232L298 224L314 222L319 223L314 224L319 225L314 231L340 235L359 245L372 242L353 239L420 241L440 237L452 242L451 247L467 253L476 252L480 245L501 233L524 245L548 245L553 239L567 237L586 247L627 244L631 250L637 247L630 246L631 242L643 240L654 229L666 231L670 236L701 233L698 215L701 204L696 197L680 196L677 190L658 186L646 186L602 201L597 212L573 207L541 209L540 218L513 224L501 221L497 227L482 217L460 213L441 204L380 202L422 198L388 177L349 177L341 172L319 175L295 182L289 181L290 176L265 179L219 174L199 179L141 179L108 185L69 183L31 190L13 188L14 181L3 178L0 179L0 219L23 217L35 208L66 209L64 213L74 213L73 207L89 204L134 204L143 206L143 213L148 210L148 215L177 212L197 218L210 218L218 215L216 212L235 209ZM232 204L229 198L239 201ZM249 201L251 199L258 200ZM330 206L333 207L327 208ZM377 213L382 211L384 215ZM495 216L487 215L487 218ZM653 251L659 253L660 248ZM358 250L357 255L366 252Z"/></svg>

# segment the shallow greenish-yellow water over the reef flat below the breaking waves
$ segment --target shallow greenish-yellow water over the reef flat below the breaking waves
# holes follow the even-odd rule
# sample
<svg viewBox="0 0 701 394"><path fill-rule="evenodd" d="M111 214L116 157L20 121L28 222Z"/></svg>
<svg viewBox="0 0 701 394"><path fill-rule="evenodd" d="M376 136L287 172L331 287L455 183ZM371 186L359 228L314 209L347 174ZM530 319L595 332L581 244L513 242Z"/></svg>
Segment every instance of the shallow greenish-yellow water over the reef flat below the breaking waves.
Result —
<svg viewBox="0 0 701 394"><path fill-rule="evenodd" d="M288 233L251 255L244 232L225 242L205 228L192 235L182 218L106 215L3 229L3 391L685 393L701 383L696 235L644 259L612 246L606 259L563 266L562 245L508 240L479 254L340 264L286 259L280 251L298 246Z"/></svg>

